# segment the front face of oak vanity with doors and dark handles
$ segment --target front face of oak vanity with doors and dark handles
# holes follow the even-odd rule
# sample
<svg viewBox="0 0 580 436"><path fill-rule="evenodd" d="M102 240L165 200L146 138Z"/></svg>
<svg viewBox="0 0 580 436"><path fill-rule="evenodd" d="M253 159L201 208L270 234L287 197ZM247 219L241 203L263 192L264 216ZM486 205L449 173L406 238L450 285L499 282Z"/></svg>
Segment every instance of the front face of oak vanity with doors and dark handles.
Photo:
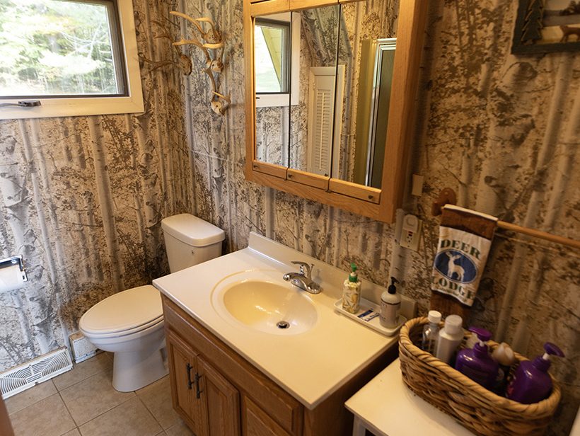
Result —
<svg viewBox="0 0 580 436"><path fill-rule="evenodd" d="M197 436L302 435L302 405L163 297L173 408Z"/></svg>

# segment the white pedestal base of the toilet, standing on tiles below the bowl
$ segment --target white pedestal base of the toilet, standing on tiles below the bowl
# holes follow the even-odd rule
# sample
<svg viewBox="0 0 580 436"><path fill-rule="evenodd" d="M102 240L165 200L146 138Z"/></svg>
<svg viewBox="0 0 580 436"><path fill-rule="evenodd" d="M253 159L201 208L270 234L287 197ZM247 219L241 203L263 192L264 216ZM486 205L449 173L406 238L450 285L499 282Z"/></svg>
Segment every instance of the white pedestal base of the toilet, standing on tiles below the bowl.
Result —
<svg viewBox="0 0 580 436"><path fill-rule="evenodd" d="M166 348L115 352L112 387L121 392L137 391L168 374Z"/></svg>

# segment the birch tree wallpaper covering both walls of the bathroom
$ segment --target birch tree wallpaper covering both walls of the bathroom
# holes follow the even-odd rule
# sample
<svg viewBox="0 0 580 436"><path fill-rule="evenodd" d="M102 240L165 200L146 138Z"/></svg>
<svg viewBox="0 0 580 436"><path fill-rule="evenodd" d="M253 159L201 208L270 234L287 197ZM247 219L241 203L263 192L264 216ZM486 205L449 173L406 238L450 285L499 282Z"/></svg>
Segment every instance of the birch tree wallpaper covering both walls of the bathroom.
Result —
<svg viewBox="0 0 580 436"><path fill-rule="evenodd" d="M361 7L385 3L397 1ZM423 314L442 188L464 207L580 239L580 56L510 54L517 2L429 2L410 163L425 183L405 205L424 220L419 252L397 248L393 225L245 181L241 0L134 8L146 113L0 122L1 255L23 254L30 277L0 294L0 369L65 345L95 302L168 273L160 220L175 213L224 229L228 252L257 231L345 271L355 262L362 280L386 285L395 271ZM190 76L154 68L174 54L151 21L178 32L171 9L211 16L224 34L224 116L207 104L196 47ZM580 403L579 256L498 231L472 309L472 324L528 357L545 341L566 353L551 369L563 388L551 435L568 434Z"/></svg>

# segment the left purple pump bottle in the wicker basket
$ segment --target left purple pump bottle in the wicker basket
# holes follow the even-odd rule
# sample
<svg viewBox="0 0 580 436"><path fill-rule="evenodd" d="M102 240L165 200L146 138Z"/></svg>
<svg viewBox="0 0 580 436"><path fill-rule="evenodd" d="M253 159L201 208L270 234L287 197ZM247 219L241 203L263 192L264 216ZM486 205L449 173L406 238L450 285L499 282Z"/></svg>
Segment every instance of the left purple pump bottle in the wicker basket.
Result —
<svg viewBox="0 0 580 436"><path fill-rule="evenodd" d="M465 348L457 353L455 369L487 389L492 389L497 377L498 363L492 359L485 343L492 338L492 333L485 328L470 327L477 335L479 343L473 348Z"/></svg>

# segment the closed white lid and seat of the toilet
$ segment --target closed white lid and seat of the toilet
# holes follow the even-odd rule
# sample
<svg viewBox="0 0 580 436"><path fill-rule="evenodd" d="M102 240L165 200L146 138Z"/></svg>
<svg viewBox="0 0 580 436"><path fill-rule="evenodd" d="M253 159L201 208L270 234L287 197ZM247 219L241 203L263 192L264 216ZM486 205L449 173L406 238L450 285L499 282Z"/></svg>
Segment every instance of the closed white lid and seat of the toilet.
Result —
<svg viewBox="0 0 580 436"><path fill-rule="evenodd" d="M163 319L161 294L151 286L118 292L95 304L81 317L79 325L92 334L127 331Z"/></svg>

